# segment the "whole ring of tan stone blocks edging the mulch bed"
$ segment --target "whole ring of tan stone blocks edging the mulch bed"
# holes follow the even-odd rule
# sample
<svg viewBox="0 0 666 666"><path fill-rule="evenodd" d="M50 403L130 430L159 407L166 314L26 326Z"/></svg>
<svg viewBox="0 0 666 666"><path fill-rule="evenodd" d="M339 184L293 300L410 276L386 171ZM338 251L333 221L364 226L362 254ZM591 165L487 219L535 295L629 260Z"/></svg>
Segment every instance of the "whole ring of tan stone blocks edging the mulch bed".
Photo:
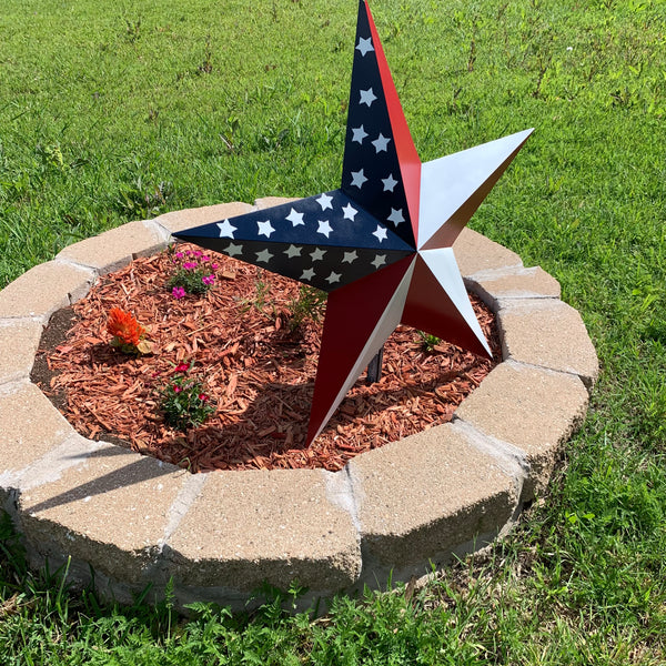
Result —
<svg viewBox="0 0 666 666"><path fill-rule="evenodd" d="M179 606L246 604L263 582L302 604L383 587L486 546L542 493L581 425L598 362L576 310L541 268L465 229L465 283L498 320L503 361L451 423L356 456L340 472L192 475L79 435L30 382L44 326L100 275L171 233L292 199L176 211L74 243L0 291L0 502L29 561L123 603L169 581Z"/></svg>

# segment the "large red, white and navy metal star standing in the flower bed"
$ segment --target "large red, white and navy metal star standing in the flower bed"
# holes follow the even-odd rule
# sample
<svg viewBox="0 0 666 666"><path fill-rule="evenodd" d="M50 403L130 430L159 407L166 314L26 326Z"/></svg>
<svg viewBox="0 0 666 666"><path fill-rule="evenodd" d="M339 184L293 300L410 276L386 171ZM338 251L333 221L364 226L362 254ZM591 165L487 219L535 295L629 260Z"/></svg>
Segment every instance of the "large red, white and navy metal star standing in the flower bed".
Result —
<svg viewBox="0 0 666 666"><path fill-rule="evenodd" d="M490 357L452 245L532 130L421 163L359 4L340 189L174 234L329 292L306 445L402 322Z"/></svg>

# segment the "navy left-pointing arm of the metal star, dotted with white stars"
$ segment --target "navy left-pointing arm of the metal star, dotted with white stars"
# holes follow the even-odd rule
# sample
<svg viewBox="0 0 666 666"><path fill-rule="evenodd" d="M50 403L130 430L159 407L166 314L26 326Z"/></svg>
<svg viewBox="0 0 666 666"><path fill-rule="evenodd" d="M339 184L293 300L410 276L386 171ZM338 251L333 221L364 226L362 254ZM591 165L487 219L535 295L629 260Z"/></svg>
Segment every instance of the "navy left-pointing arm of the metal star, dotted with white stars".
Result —
<svg viewBox="0 0 666 666"><path fill-rule="evenodd" d="M414 253L340 190L174 235L326 292Z"/></svg>

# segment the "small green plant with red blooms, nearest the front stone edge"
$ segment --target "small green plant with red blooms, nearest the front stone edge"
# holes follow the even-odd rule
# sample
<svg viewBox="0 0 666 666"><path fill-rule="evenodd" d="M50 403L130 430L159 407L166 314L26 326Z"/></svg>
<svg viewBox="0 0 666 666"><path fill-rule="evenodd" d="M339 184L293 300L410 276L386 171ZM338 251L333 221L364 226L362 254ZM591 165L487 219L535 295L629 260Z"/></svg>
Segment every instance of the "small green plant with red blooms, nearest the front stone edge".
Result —
<svg viewBox="0 0 666 666"><path fill-rule="evenodd" d="M169 383L161 389L161 408L167 423L180 431L199 427L215 412L215 403L205 393L200 377L190 374L191 363L180 363Z"/></svg>

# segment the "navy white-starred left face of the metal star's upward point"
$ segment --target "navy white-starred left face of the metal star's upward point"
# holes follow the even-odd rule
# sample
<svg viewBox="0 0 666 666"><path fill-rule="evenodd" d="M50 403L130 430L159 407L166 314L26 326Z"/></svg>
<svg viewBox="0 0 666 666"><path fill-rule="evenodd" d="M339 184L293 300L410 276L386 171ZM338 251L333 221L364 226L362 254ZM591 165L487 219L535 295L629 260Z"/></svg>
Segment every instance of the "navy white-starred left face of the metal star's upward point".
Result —
<svg viewBox="0 0 666 666"><path fill-rule="evenodd" d="M377 51L363 4L356 26L342 190L415 245Z"/></svg>

